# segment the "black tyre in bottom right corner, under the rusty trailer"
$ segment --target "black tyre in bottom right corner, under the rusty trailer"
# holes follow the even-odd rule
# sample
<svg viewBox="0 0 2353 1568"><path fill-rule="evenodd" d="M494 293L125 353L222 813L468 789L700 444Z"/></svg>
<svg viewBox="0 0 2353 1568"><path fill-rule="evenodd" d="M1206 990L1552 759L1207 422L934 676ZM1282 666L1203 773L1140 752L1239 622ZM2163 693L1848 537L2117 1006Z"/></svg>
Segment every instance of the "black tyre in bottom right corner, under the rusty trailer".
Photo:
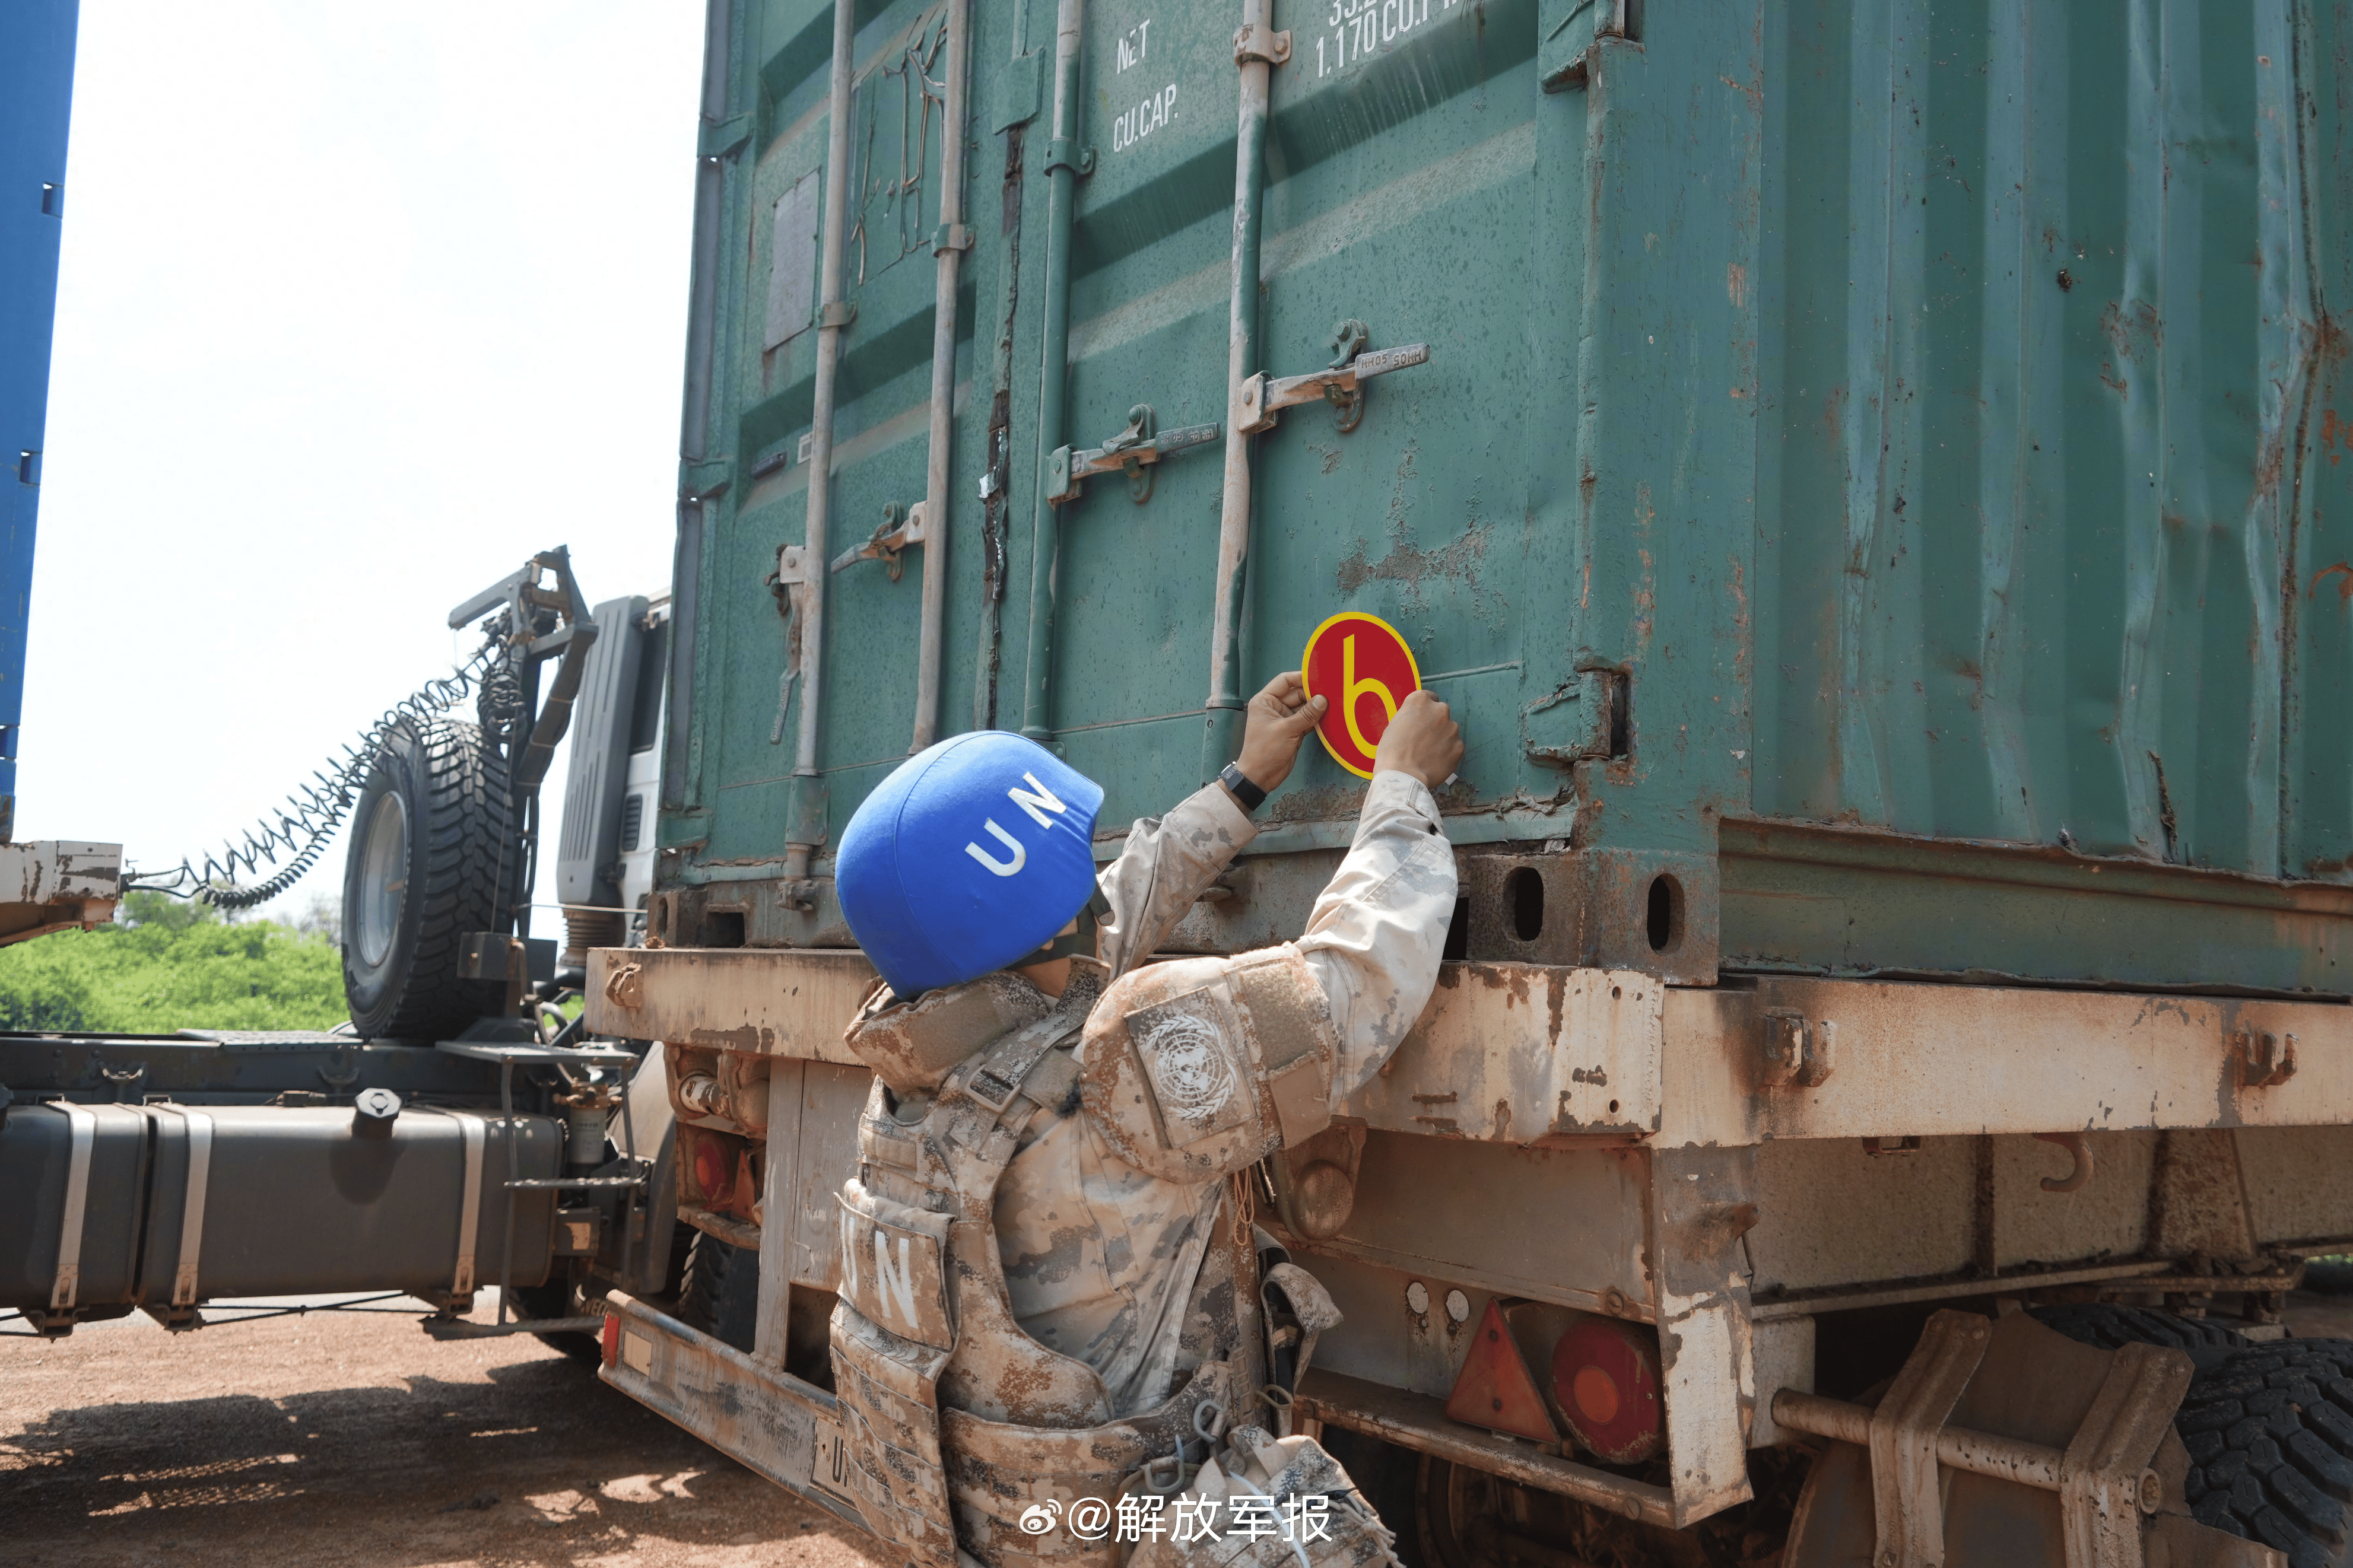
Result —
<svg viewBox="0 0 2353 1568"><path fill-rule="evenodd" d="M2174 1432L2191 1514L2287 1556L2353 1563L2353 1340L2235 1349L2191 1382Z"/></svg>

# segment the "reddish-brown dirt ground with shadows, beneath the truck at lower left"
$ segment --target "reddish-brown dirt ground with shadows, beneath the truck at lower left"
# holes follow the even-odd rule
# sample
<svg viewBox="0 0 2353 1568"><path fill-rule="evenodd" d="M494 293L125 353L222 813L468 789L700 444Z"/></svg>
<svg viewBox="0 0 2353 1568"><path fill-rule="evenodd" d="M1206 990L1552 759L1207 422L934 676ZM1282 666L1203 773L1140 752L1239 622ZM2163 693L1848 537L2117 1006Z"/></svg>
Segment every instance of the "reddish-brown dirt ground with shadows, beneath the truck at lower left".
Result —
<svg viewBox="0 0 2353 1568"><path fill-rule="evenodd" d="M0 1338L0 1540L12 1561L191 1568L873 1561L591 1366L391 1314Z"/></svg>

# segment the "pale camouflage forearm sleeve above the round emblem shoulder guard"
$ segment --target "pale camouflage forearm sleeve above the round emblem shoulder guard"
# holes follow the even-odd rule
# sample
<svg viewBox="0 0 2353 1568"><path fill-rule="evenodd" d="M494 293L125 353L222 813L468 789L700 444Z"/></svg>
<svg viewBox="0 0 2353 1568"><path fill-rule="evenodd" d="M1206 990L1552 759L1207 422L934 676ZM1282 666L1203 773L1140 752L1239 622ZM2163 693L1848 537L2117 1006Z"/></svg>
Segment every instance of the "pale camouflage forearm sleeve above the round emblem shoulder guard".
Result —
<svg viewBox="0 0 2353 1568"><path fill-rule="evenodd" d="M1374 773L1355 842L1308 914L1299 952L1339 1030L1332 1103L1353 1095L1421 1018L1454 917L1454 846L1412 773Z"/></svg>

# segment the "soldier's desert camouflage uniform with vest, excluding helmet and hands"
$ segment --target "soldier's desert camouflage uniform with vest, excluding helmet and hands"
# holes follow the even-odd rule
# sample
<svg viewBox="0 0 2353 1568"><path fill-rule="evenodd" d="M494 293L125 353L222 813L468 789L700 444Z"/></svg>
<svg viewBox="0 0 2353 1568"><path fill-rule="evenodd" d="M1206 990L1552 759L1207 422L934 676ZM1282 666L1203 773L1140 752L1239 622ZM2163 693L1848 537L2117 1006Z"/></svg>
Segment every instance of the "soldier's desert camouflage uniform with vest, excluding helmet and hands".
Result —
<svg viewBox="0 0 2353 1568"><path fill-rule="evenodd" d="M849 1027L878 1084L842 1190L835 1382L868 1526L915 1561L1118 1561L1019 1516L1115 1497L1266 1380L1226 1178L1320 1131L1412 1030L1454 853L1431 792L1379 773L1297 943L1136 969L1252 837L1219 785L1139 820L1061 999L998 971L878 992ZM1195 1044L1219 1037L1224 1067Z"/></svg>

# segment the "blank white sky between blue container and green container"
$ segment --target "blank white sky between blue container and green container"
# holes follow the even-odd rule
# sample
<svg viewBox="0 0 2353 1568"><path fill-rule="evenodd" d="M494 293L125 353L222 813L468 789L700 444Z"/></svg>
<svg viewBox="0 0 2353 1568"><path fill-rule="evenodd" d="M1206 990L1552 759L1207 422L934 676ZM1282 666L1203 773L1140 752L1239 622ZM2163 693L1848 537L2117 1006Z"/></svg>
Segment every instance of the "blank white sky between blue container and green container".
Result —
<svg viewBox="0 0 2353 1568"><path fill-rule="evenodd" d="M532 550L666 592L701 12L82 0L19 837L219 844Z"/></svg>

